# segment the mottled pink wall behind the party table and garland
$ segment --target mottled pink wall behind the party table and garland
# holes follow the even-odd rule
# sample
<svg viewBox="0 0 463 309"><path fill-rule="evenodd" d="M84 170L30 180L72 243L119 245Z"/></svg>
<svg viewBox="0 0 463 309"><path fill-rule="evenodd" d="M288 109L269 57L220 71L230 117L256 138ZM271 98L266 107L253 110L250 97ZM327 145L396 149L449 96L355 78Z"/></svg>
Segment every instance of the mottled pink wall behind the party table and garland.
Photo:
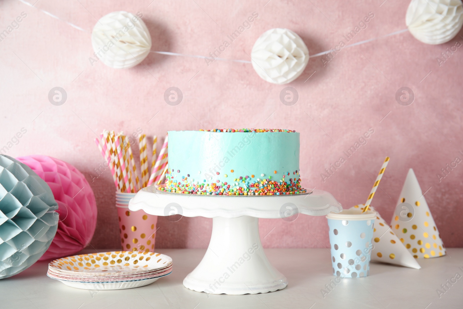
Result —
<svg viewBox="0 0 463 309"><path fill-rule="evenodd" d="M153 39L152 50L204 56L257 12L259 17L250 29L220 55L249 60L255 40L270 28L293 30L304 39L310 54L316 54L335 47L340 40L345 42L343 35L369 12L374 18L350 43L404 29L408 5L400 0L382 5L377 0L150 2L41 0L36 4L88 32L18 0L0 2L0 31L21 12L27 13L19 28L0 42L0 148L11 145L8 142L24 127L27 132L8 155L50 155L86 175L99 211L92 246L119 245L109 170L92 183L94 169L102 162L94 133L105 128L131 133L138 127L160 139L168 130L294 129L301 133L303 185L331 192L344 207L365 201L372 185L369 177L374 178L384 157L390 156L373 205L384 218L391 218L407 170L413 168L423 191L431 188L425 197L444 244L463 246L463 165L458 164L441 181L437 176L456 157L463 158L458 152L463 151L463 51L457 49L440 66L436 60L457 41L463 43L462 36L431 46L405 32L345 48L328 63L322 57L310 59L300 78L285 86L264 82L250 64L215 61L207 66L204 59L153 53L143 66L132 69L115 70L101 62L91 66L90 31L96 19L112 11L142 12ZM50 104L47 98L56 86L68 94L62 106ZM172 86L184 95L178 106L163 100L164 91ZM299 93L294 106L285 106L279 99L286 86ZM394 98L404 86L415 94L410 106L401 106ZM368 143L323 181L320 174L324 169L338 161L369 128L374 133ZM209 241L211 219L183 218L172 223L159 218L158 222L158 248L204 248ZM324 217L301 215L293 222L261 220L260 231L266 247L328 245Z"/></svg>

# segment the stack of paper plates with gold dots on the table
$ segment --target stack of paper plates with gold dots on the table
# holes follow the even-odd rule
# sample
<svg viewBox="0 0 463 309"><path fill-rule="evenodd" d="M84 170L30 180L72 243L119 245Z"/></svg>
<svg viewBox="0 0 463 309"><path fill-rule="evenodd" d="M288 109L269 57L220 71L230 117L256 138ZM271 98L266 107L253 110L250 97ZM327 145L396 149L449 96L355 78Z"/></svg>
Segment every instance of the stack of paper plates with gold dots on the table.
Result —
<svg viewBox="0 0 463 309"><path fill-rule="evenodd" d="M87 290L122 290L155 282L172 272L172 259L161 253L113 251L56 259L47 275Z"/></svg>

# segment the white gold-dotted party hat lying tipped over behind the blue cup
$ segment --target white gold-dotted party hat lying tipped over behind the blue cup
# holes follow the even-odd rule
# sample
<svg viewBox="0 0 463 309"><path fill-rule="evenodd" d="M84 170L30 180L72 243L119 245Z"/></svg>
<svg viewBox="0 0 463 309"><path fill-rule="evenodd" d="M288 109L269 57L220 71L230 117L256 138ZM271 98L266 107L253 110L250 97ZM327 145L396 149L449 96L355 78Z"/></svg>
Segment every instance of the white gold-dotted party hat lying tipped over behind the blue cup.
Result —
<svg viewBox="0 0 463 309"><path fill-rule="evenodd" d="M355 205L352 208L363 209L363 204ZM371 241L374 246L371 250L371 261L420 269L421 266L416 259L413 258L412 254L400 242L399 238L394 234L391 227L384 221L378 211L371 206L369 208L376 212L373 240Z"/></svg>

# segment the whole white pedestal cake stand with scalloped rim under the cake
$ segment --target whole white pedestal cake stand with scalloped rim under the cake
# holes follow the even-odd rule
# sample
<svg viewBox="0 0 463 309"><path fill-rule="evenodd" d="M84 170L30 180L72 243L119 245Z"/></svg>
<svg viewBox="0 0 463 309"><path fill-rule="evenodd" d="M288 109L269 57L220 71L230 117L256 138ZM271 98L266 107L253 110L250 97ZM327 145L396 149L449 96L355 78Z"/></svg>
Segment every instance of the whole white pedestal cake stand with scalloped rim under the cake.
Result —
<svg viewBox="0 0 463 309"><path fill-rule="evenodd" d="M243 295L284 289L288 280L273 267L259 237L258 218L291 221L288 215L326 215L342 210L328 192L300 195L187 195L150 186L129 202L131 211L213 218L212 235L200 264L183 280L190 290Z"/></svg>

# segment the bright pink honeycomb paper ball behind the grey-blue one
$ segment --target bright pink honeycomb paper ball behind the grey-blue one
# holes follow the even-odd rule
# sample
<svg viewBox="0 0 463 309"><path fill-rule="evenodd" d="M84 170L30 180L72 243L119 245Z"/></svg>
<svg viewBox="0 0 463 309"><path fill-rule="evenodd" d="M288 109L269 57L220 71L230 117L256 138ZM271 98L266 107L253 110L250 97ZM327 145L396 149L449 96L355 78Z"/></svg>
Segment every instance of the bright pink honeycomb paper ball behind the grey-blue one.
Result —
<svg viewBox="0 0 463 309"><path fill-rule="evenodd" d="M88 246L96 227L97 208L92 188L82 173L71 164L48 156L17 159L48 184L58 203L58 230L40 260L74 254Z"/></svg>

